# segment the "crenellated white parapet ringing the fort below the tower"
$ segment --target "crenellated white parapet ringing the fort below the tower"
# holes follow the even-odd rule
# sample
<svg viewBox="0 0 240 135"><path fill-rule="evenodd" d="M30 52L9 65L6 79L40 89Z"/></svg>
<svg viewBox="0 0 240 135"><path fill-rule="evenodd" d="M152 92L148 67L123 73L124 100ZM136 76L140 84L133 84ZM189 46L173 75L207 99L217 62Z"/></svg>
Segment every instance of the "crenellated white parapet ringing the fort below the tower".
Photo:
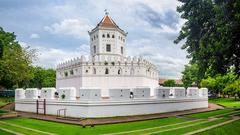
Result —
<svg viewBox="0 0 240 135"><path fill-rule="evenodd" d="M142 57L73 58L57 66L57 78L83 75L146 76L158 79L157 67Z"/></svg>

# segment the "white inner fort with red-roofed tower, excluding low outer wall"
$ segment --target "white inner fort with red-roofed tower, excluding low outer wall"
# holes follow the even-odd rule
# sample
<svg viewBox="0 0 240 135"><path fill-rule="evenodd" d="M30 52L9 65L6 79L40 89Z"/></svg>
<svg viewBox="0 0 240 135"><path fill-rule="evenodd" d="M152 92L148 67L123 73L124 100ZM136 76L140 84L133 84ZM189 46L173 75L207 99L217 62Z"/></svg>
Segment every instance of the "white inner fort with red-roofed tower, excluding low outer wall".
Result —
<svg viewBox="0 0 240 135"><path fill-rule="evenodd" d="M88 60L81 56L57 66L56 87L100 88L103 97L109 89L147 87L151 96L158 86L157 67L142 57L126 56L127 33L108 16L89 32ZM137 49L137 48L136 48Z"/></svg>

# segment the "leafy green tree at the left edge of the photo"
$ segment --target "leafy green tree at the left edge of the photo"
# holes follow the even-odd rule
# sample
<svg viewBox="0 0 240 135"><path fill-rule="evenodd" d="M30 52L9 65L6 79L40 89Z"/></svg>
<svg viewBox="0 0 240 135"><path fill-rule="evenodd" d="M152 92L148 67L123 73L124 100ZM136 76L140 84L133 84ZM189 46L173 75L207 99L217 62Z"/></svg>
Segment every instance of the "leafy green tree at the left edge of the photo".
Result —
<svg viewBox="0 0 240 135"><path fill-rule="evenodd" d="M22 48L14 33L0 27L0 85L13 88L24 85L32 78L31 64L35 50Z"/></svg>

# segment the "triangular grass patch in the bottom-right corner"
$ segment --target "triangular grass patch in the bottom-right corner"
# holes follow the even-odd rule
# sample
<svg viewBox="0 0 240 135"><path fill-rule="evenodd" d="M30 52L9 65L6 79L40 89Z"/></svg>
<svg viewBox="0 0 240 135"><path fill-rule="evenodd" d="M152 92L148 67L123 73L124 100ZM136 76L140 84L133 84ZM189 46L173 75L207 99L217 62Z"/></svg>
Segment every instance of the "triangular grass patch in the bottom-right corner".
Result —
<svg viewBox="0 0 240 135"><path fill-rule="evenodd" d="M197 135L239 135L240 133L240 120L217 127Z"/></svg>

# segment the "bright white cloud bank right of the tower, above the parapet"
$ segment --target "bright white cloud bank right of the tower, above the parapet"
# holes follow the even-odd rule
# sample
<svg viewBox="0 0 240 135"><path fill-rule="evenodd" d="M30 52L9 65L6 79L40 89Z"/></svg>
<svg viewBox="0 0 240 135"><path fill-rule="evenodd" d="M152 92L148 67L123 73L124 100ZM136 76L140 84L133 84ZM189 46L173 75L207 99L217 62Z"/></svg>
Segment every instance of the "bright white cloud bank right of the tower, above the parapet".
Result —
<svg viewBox="0 0 240 135"><path fill-rule="evenodd" d="M177 47L164 46L156 39L139 39L131 41L128 44L127 51L132 56L143 56L154 63L159 69L161 78L179 79L188 60L185 59L184 52L181 54L175 52ZM137 51L136 48L138 48ZM168 49L171 52L167 51Z"/></svg>

